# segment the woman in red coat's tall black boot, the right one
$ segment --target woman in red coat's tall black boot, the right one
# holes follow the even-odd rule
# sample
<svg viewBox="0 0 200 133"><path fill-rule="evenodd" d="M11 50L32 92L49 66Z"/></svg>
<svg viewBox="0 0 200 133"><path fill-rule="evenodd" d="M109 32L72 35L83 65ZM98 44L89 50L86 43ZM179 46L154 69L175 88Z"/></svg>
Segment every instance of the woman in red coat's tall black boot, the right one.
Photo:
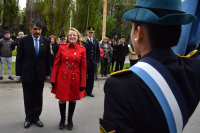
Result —
<svg viewBox="0 0 200 133"><path fill-rule="evenodd" d="M76 107L76 103L69 102L68 119L67 119L67 121L68 121L68 129L69 130L73 129L72 117L73 117L73 114L74 114L75 107Z"/></svg>

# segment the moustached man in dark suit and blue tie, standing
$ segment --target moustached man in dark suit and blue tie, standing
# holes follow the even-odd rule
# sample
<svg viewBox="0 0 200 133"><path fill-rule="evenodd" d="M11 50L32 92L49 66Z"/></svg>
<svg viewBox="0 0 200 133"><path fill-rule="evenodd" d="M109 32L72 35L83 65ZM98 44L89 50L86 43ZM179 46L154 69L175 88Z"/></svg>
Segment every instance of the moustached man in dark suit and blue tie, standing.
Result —
<svg viewBox="0 0 200 133"><path fill-rule="evenodd" d="M16 58L17 80L22 81L26 119L24 127L31 122L43 127L39 116L42 112L44 81L50 75L50 41L41 36L42 22L33 19L31 34L19 40Z"/></svg>

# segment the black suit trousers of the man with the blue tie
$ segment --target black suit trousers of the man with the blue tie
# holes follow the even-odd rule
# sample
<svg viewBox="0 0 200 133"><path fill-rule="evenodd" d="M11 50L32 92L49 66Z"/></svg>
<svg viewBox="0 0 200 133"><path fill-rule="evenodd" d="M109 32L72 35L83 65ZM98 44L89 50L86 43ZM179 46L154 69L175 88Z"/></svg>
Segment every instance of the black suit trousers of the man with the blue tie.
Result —
<svg viewBox="0 0 200 133"><path fill-rule="evenodd" d="M39 120L42 112L44 82L22 82L26 120Z"/></svg>

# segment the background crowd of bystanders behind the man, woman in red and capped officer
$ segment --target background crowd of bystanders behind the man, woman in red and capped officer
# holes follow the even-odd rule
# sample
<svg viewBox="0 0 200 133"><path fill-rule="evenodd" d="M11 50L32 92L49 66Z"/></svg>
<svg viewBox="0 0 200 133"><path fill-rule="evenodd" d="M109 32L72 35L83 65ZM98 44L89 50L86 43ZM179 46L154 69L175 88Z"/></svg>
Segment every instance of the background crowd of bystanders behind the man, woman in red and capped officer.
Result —
<svg viewBox="0 0 200 133"><path fill-rule="evenodd" d="M90 28L90 27L89 27ZM7 62L8 66L8 74L9 79L14 80L12 77L12 51L18 47L18 42L21 37L24 37L24 33L20 31L18 36L13 33L10 34L10 31L7 27L3 27L2 37L0 38L0 60L1 60L1 75L0 80L3 79L4 76L4 68L5 62ZM67 44L69 42L68 37L56 38L54 35L48 36L50 40L50 53L51 53L51 71L53 68L54 59L57 55L58 49L60 45ZM86 38L81 37L81 40L85 40ZM6 43L6 44L5 44ZM7 47L8 45L9 47ZM98 66L94 69L94 77L98 79L98 69L99 63L101 63L100 74L101 77L108 77L108 74L111 72L119 71L123 69L125 57L130 53L130 66L134 65L138 62L138 55L134 52L134 48L132 45L128 45L125 42L125 38L122 37L115 41L114 38L109 39L105 37L102 41L99 41L99 50L100 50L100 59L98 62ZM114 68L114 64L115 68ZM114 68L114 69L113 69ZM51 75L50 71L50 75Z"/></svg>

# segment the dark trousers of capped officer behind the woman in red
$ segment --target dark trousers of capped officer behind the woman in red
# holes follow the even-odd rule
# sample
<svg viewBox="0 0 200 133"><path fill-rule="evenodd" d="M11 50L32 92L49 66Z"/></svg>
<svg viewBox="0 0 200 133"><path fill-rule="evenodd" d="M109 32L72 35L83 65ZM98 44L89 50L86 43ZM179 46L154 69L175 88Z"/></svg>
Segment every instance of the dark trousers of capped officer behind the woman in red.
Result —
<svg viewBox="0 0 200 133"><path fill-rule="evenodd" d="M91 95L94 86L94 67L87 67L86 94Z"/></svg>

